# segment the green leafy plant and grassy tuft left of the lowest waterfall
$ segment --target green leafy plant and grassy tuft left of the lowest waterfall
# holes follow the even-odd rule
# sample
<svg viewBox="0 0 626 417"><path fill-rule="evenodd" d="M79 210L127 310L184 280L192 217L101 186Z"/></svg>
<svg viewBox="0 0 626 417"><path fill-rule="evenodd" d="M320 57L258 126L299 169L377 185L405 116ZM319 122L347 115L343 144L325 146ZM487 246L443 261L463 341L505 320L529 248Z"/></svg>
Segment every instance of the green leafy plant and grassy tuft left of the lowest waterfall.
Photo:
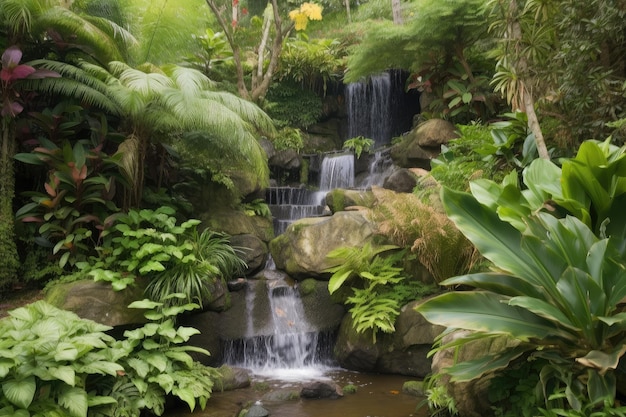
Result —
<svg viewBox="0 0 626 417"><path fill-rule="evenodd" d="M177 224L175 211L131 210L117 216L116 224L102 235L100 256L77 266L96 281L109 281L115 290L150 277L146 294L153 300L202 305L216 279L230 278L245 268L227 236L205 229L199 220ZM172 293L185 297L168 298ZM167 300L167 301L165 301Z"/></svg>

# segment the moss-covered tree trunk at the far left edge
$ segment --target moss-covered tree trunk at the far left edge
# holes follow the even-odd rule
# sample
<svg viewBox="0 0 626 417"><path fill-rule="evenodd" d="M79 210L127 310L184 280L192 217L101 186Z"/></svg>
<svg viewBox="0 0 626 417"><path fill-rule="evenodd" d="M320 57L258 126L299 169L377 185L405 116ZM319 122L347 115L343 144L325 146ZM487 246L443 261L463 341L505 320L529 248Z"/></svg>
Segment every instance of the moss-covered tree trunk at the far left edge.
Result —
<svg viewBox="0 0 626 417"><path fill-rule="evenodd" d="M2 147L0 148L0 288L17 280L19 259L15 244L15 216L13 197L15 195L15 125L8 117L2 118Z"/></svg>

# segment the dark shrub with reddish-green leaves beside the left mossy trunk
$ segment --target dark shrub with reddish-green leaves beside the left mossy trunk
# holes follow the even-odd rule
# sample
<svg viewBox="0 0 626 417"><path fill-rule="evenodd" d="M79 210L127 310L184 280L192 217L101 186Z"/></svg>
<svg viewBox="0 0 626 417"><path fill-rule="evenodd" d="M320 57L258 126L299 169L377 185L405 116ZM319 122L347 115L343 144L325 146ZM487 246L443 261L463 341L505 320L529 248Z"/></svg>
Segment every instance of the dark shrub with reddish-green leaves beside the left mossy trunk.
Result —
<svg viewBox="0 0 626 417"><path fill-rule="evenodd" d="M43 115L42 115L43 117ZM113 202L115 185L123 184L119 157L102 152L101 144L79 140L62 146L39 138L31 153L15 156L18 161L48 168L45 192L24 193L31 202L16 213L25 223L40 225L35 241L51 247L60 256L59 265L84 260L92 251L106 218L118 211Z"/></svg>

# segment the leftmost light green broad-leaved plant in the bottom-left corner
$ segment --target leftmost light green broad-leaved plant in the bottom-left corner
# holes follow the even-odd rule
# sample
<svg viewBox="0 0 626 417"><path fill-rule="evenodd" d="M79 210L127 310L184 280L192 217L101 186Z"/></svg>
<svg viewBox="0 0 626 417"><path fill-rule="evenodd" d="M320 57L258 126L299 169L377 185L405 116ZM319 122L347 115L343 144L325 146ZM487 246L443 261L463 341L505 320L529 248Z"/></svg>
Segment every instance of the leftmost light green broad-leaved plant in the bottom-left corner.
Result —
<svg viewBox="0 0 626 417"><path fill-rule="evenodd" d="M123 371L108 330L45 301L10 311L0 320L0 416L84 417L114 402L92 386Z"/></svg>

